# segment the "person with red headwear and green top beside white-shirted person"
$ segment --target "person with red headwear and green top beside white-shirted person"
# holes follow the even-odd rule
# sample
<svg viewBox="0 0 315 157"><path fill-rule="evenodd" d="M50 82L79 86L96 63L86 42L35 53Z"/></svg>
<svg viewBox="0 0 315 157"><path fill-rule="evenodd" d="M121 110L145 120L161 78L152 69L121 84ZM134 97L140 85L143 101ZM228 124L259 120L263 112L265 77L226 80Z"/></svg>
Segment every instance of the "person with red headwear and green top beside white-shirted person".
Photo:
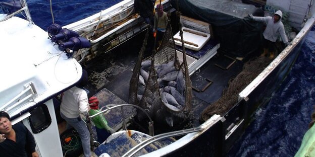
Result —
<svg viewBox="0 0 315 157"><path fill-rule="evenodd" d="M90 105L90 111L89 115L95 115L99 113L98 109L98 99L96 97L91 97L89 99L89 105ZM115 133L115 130L113 130L108 124L103 114L99 114L92 118L92 122L95 125L96 133L97 133L97 141L99 143L102 143L107 139L108 136Z"/></svg>

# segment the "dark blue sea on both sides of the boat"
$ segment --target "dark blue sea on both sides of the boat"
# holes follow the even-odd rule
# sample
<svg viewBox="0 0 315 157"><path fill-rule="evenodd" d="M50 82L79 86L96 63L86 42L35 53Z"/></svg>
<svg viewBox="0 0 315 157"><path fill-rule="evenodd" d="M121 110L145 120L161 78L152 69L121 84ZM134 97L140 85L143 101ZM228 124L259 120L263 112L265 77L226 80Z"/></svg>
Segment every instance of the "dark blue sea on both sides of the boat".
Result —
<svg viewBox="0 0 315 157"><path fill-rule="evenodd" d="M32 19L46 30L53 22L48 0L29 0ZM107 9L121 0L52 0L55 23L62 26ZM315 98L315 27L269 104L258 109L255 119L234 144L229 156L294 156L308 129Z"/></svg>

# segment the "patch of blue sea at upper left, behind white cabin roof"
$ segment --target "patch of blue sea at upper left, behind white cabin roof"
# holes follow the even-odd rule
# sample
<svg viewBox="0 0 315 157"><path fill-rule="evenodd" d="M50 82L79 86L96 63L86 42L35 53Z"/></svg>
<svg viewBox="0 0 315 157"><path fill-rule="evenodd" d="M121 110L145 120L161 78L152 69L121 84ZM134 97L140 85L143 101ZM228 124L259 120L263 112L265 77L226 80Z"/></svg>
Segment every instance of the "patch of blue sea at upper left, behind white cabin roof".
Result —
<svg viewBox="0 0 315 157"><path fill-rule="evenodd" d="M32 20L43 30L46 30L47 27L53 23L49 2L48 0L27 1ZM65 26L99 13L101 10L110 8L119 2L122 2L122 0L51 0L51 8L53 10L55 23Z"/></svg>

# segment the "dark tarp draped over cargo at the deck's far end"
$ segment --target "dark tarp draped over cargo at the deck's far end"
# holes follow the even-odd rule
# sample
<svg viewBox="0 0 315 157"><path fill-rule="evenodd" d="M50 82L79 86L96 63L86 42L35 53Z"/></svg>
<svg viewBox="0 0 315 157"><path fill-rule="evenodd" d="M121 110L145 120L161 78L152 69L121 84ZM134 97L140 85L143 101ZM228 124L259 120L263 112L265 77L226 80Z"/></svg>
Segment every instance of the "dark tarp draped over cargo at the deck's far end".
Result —
<svg viewBox="0 0 315 157"><path fill-rule="evenodd" d="M261 47L263 23L247 15L264 16L264 11L257 12L253 5L230 0L172 0L171 4L184 16L211 24L222 51L246 57Z"/></svg>

